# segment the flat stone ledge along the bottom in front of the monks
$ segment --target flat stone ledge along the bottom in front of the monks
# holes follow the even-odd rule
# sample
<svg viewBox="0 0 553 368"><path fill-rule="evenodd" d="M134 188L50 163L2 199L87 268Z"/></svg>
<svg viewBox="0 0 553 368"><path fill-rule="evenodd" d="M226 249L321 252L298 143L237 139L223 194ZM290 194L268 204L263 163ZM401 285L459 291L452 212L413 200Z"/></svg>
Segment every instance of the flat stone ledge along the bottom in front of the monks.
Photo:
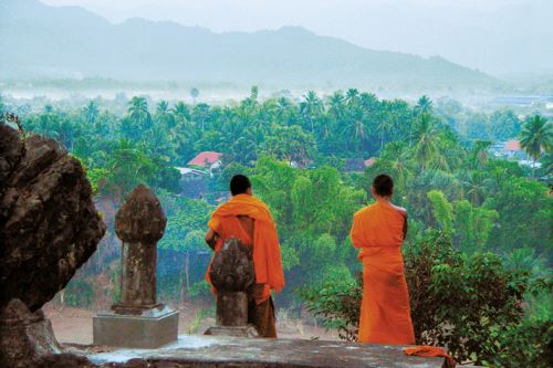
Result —
<svg viewBox="0 0 553 368"><path fill-rule="evenodd" d="M94 347L95 351L102 347ZM406 356L401 346L342 341L180 335L159 349L74 351L109 367L442 368L442 358Z"/></svg>

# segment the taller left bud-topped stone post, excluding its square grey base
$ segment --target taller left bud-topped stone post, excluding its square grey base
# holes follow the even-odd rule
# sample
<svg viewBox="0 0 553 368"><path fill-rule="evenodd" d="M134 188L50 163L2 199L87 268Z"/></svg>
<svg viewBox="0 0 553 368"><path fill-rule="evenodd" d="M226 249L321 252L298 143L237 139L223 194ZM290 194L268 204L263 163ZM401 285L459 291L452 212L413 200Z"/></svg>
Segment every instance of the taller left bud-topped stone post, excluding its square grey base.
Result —
<svg viewBox="0 0 553 368"><path fill-rule="evenodd" d="M115 233L122 240L121 301L112 306L118 314L142 314L159 307L156 302L157 242L167 219L156 196L136 187L115 215Z"/></svg>

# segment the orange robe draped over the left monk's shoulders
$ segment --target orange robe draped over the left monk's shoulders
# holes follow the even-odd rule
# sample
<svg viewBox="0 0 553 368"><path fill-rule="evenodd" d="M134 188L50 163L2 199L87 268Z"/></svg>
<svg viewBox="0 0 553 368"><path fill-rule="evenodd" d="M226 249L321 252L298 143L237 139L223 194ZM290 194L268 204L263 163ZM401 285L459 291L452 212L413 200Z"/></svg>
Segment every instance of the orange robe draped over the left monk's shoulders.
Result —
<svg viewBox="0 0 553 368"><path fill-rule="evenodd" d="M253 241L247 221L239 217L253 219ZM253 267L255 283L263 284L255 291L255 303L261 304L271 296L271 291L280 292L284 286L284 272L279 246L279 236L273 219L265 203L249 194L233 196L219 206L211 214L208 227L219 234L215 251L219 252L229 238L239 239L244 245L253 244ZM209 270L206 275L209 280Z"/></svg>

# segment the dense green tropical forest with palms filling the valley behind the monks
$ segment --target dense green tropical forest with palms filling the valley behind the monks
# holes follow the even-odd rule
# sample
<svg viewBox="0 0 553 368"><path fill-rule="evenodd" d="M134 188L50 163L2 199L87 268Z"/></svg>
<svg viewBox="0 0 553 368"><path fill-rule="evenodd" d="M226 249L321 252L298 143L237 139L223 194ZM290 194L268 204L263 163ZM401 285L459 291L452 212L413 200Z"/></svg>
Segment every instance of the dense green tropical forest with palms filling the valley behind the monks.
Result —
<svg viewBox="0 0 553 368"><path fill-rule="evenodd" d="M0 102L4 111L12 107ZM165 301L210 301L202 235L229 178L243 172L276 222L286 276L278 306L298 315L307 306L352 338L361 265L348 231L353 213L372 200L372 179L387 172L396 181L395 202L410 214L406 262L419 341L446 345L466 361L545 361L551 122L495 112L478 119L492 122L482 126L426 96L413 106L357 90L309 92L296 103L259 101L253 87L248 98L222 106L148 106L136 96L126 107L119 116L95 101L79 111L46 105L21 116L22 127L60 140L86 166L111 225L129 190L139 182L154 188L168 217L158 266ZM520 138L541 167L490 154L493 141L510 138ZM184 180L177 168L200 151L221 153L222 168ZM66 288L65 303L105 307L116 297L118 244L109 232ZM465 329L448 335L445 325Z"/></svg>

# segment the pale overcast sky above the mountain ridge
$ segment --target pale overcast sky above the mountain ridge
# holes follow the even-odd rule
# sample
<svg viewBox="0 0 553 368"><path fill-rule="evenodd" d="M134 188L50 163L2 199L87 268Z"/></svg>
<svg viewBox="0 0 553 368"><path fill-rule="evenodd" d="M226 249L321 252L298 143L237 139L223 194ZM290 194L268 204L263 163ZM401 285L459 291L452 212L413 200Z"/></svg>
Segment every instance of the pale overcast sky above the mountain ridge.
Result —
<svg viewBox="0 0 553 368"><path fill-rule="evenodd" d="M112 22L140 17L216 32L302 25L377 50L440 55L494 75L553 74L553 0L42 0Z"/></svg>

